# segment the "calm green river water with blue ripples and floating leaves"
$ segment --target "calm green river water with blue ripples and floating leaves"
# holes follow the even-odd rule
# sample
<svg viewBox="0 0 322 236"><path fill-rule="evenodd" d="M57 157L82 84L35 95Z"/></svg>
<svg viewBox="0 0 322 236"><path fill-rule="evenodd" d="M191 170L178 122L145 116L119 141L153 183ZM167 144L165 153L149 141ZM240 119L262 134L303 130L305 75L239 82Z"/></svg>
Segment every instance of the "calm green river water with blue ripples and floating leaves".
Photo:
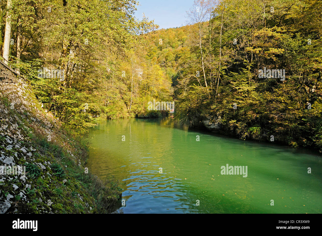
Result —
<svg viewBox="0 0 322 236"><path fill-rule="evenodd" d="M126 205L115 213L322 211L322 158L309 150L191 130L169 118L96 124L87 167L123 184ZM247 177L222 175L227 164L247 166Z"/></svg>

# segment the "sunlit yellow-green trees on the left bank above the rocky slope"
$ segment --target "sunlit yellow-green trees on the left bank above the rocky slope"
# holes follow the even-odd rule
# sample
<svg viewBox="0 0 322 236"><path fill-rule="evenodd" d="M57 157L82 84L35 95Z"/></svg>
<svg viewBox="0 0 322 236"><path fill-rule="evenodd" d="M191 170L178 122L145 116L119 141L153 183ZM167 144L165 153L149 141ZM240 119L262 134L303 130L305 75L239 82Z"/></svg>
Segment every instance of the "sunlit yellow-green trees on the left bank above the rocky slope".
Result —
<svg viewBox="0 0 322 236"><path fill-rule="evenodd" d="M160 99L171 93L158 65L145 65L148 41L140 36L157 25L146 17L135 19L136 5L131 0L12 1L11 20L20 19L21 38L28 40L21 41L20 60L11 51L10 63L30 80L43 109L74 137L93 126L93 117L134 117L146 90ZM140 51L133 52L134 46Z"/></svg>

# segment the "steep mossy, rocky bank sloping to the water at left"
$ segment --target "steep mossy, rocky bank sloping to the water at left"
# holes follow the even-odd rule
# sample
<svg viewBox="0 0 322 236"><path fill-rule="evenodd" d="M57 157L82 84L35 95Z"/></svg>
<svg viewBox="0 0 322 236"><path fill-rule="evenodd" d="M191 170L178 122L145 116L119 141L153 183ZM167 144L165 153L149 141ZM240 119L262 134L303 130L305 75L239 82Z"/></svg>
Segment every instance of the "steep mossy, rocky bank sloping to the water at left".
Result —
<svg viewBox="0 0 322 236"><path fill-rule="evenodd" d="M1 69L0 166L9 171L0 173L0 213L111 212L118 181L92 175L85 143L41 107L22 77Z"/></svg>

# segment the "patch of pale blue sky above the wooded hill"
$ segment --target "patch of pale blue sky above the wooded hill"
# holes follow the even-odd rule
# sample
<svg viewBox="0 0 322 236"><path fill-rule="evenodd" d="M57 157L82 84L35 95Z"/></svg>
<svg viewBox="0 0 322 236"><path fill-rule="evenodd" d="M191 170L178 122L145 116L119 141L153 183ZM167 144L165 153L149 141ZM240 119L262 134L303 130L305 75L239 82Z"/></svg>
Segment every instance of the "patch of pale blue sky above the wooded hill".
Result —
<svg viewBox="0 0 322 236"><path fill-rule="evenodd" d="M194 0L138 0L136 18L141 19L142 13L149 20L162 28L173 28L186 25L186 11L192 7Z"/></svg>

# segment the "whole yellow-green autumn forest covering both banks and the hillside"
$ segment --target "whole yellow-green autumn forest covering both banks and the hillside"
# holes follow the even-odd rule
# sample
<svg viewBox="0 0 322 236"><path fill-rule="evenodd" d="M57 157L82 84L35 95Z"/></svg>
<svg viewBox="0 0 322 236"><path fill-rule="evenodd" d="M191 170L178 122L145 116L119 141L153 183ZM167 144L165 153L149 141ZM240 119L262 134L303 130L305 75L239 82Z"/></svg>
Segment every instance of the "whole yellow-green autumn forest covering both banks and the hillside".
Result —
<svg viewBox="0 0 322 236"><path fill-rule="evenodd" d="M1 1L1 55L45 112L82 137L92 119L175 119L322 150L322 0L196 0L158 29L132 0Z"/></svg>

